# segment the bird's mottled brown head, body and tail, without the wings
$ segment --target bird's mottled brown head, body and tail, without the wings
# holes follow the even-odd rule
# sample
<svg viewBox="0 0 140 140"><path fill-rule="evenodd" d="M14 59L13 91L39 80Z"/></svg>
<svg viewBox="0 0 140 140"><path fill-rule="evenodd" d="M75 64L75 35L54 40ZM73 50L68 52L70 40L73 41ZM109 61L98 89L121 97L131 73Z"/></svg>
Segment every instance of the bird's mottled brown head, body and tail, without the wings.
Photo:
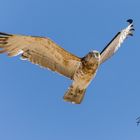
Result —
<svg viewBox="0 0 140 140"><path fill-rule="evenodd" d="M75 71L73 83L66 92L64 99L73 103L80 103L84 97L86 88L96 75L100 64L100 53L89 52L82 58L82 63Z"/></svg>

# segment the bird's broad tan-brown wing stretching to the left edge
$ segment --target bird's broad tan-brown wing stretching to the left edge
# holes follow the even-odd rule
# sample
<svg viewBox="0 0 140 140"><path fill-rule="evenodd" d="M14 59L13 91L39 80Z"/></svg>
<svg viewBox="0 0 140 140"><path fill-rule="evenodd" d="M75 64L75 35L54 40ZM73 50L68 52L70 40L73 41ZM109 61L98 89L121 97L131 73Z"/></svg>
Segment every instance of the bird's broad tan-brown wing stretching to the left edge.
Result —
<svg viewBox="0 0 140 140"><path fill-rule="evenodd" d="M0 53L7 53L10 57L21 54L22 59L71 79L81 62L80 58L44 37L0 33L0 48Z"/></svg>

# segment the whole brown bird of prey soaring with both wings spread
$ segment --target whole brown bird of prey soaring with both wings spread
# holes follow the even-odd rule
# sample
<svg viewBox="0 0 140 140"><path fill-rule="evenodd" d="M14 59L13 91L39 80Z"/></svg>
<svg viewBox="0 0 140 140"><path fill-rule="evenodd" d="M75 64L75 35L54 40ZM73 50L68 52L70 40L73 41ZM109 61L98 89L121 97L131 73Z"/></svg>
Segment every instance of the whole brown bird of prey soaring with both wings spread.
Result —
<svg viewBox="0 0 140 140"><path fill-rule="evenodd" d="M129 35L133 35L133 20L129 19L127 22L129 25L118 32L101 52L91 51L82 58L67 52L46 37L2 32L0 53L7 53L9 57L20 55L23 60L29 60L73 80L63 98L65 101L80 104L99 66L118 50Z"/></svg>

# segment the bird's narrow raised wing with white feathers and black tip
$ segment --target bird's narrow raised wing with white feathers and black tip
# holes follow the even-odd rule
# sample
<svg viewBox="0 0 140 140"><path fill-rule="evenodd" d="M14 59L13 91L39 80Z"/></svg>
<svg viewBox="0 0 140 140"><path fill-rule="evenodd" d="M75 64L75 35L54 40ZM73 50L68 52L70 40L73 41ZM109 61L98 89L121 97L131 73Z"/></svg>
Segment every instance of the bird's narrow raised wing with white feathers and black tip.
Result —
<svg viewBox="0 0 140 140"><path fill-rule="evenodd" d="M129 22L129 25L123 29L121 32L118 32L116 36L109 42L109 44L102 50L100 64L106 61L108 58L110 58L121 46L123 41L129 36L133 35L133 20L129 19L127 20Z"/></svg>

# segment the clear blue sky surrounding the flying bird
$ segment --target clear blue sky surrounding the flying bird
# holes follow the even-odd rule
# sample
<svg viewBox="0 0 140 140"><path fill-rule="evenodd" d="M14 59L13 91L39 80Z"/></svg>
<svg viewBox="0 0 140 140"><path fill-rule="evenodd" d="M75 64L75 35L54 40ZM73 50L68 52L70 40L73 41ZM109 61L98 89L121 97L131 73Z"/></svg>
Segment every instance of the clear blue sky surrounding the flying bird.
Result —
<svg viewBox="0 0 140 140"><path fill-rule="evenodd" d="M134 19L134 37L104 63L81 105L71 81L18 57L0 56L1 140L139 140L139 0L1 0L0 31L47 36L82 57L101 51Z"/></svg>

